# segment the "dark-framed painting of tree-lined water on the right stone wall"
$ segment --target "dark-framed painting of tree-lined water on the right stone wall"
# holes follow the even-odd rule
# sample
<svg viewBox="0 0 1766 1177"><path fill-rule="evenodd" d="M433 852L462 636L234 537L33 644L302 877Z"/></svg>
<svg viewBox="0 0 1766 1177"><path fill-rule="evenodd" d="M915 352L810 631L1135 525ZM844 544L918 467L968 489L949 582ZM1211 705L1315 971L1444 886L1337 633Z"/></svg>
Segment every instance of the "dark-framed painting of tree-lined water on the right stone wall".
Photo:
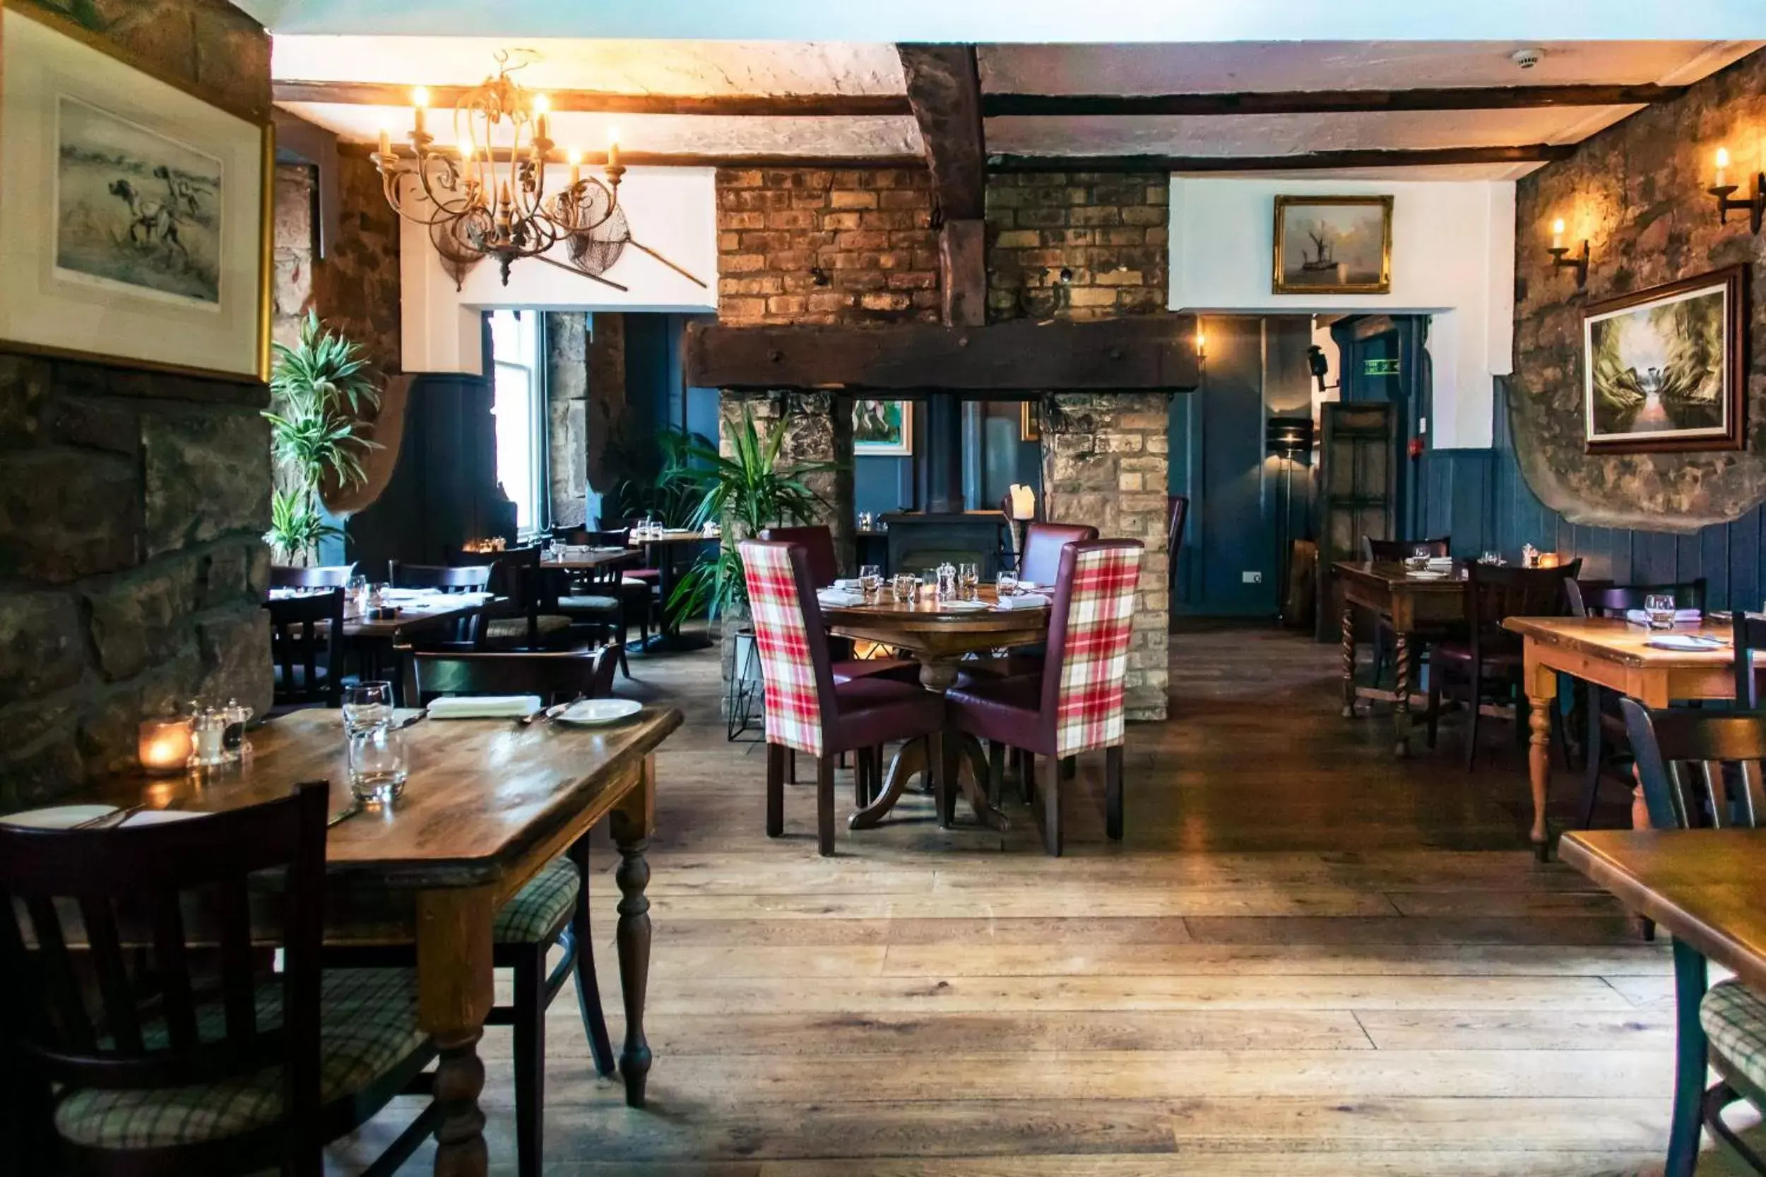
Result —
<svg viewBox="0 0 1766 1177"><path fill-rule="evenodd" d="M1589 454L1741 448L1747 289L1729 266L1582 311Z"/></svg>

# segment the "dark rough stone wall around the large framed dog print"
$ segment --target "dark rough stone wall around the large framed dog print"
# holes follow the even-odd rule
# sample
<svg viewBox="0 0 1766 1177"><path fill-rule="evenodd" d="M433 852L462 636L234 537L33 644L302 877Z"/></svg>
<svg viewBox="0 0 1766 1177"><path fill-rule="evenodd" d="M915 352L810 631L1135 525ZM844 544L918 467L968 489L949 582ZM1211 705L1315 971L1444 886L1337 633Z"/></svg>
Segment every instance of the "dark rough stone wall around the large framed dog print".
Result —
<svg viewBox="0 0 1766 1177"><path fill-rule="evenodd" d="M268 111L268 37L223 0L74 14ZM258 383L0 355L0 810L127 766L140 718L192 695L268 706L265 402Z"/></svg>

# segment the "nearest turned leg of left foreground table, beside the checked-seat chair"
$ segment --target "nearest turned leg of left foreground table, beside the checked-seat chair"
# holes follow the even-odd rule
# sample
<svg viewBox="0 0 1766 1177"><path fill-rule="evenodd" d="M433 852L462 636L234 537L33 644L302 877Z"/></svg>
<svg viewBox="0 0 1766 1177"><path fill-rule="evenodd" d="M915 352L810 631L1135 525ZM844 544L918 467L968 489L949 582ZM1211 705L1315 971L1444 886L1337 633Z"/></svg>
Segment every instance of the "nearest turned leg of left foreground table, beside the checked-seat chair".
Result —
<svg viewBox="0 0 1766 1177"><path fill-rule="evenodd" d="M491 888L449 888L417 896L417 1023L434 1041L436 1177L484 1177L484 1062L479 1039L493 1004Z"/></svg>

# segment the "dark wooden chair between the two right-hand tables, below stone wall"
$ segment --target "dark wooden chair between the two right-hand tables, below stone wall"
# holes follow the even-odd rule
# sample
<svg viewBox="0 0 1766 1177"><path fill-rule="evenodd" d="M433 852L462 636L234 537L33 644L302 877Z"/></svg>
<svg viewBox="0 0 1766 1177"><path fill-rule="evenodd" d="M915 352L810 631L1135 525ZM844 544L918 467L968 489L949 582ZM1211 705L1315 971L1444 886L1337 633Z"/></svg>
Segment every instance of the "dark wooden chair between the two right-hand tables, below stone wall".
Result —
<svg viewBox="0 0 1766 1177"><path fill-rule="evenodd" d="M1464 690L1466 771L1478 757L1478 716L1482 702L1512 702L1517 734L1526 736L1528 697L1521 690L1522 641L1503 628L1505 618L1561 618L1570 611L1565 582L1582 568L1572 559L1558 568L1505 568L1469 565L1466 568L1466 633L1438 641L1429 653L1429 746L1436 743L1443 695ZM1558 723L1559 716L1552 716Z"/></svg>

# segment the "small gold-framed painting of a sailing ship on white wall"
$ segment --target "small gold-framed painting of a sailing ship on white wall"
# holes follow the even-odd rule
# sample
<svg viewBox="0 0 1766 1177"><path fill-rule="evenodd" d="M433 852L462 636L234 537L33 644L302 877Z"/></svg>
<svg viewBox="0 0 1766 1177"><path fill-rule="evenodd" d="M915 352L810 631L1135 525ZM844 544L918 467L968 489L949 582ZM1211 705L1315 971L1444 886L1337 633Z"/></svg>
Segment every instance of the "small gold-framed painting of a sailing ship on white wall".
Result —
<svg viewBox="0 0 1766 1177"><path fill-rule="evenodd" d="M1390 196L1277 196L1277 295L1390 295Z"/></svg>

